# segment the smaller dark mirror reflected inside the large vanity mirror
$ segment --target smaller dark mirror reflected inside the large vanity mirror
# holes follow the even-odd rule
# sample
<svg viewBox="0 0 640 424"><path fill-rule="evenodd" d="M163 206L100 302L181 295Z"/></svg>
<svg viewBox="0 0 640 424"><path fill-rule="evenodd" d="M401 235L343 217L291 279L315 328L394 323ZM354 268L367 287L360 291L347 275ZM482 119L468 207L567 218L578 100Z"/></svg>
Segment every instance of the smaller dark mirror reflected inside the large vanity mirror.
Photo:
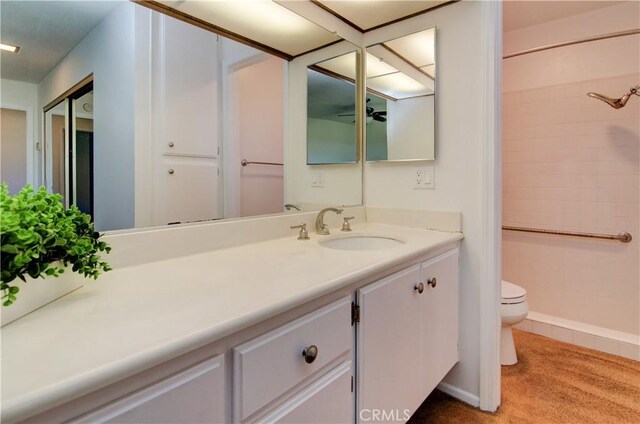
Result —
<svg viewBox="0 0 640 424"><path fill-rule="evenodd" d="M355 52L307 68L307 165L356 163Z"/></svg>

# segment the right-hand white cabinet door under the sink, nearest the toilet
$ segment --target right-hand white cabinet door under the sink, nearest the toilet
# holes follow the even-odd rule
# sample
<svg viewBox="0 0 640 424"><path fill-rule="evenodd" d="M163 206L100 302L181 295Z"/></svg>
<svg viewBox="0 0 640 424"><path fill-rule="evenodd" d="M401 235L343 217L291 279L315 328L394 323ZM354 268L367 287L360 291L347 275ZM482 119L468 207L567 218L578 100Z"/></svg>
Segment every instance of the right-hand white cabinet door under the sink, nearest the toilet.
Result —
<svg viewBox="0 0 640 424"><path fill-rule="evenodd" d="M458 249L423 263L422 281L425 283L424 381L428 395L459 360Z"/></svg>

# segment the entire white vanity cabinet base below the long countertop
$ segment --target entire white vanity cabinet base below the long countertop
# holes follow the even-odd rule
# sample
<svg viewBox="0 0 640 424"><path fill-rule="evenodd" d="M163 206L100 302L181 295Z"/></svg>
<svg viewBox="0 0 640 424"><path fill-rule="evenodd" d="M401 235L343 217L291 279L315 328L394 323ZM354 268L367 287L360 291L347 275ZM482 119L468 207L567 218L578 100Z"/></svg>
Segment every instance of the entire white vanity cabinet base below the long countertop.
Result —
<svg viewBox="0 0 640 424"><path fill-rule="evenodd" d="M453 244L440 252L26 422L406 421L459 359L459 253Z"/></svg>

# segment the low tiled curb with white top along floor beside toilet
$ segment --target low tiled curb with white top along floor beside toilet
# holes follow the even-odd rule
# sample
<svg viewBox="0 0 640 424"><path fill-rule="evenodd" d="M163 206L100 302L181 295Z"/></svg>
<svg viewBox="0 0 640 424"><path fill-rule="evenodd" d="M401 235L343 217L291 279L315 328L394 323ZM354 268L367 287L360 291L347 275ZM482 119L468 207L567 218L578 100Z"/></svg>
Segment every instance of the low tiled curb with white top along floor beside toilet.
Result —
<svg viewBox="0 0 640 424"><path fill-rule="evenodd" d="M576 346L640 361L640 336L635 334L610 330L533 311L529 312L526 320L514 326L514 328Z"/></svg>

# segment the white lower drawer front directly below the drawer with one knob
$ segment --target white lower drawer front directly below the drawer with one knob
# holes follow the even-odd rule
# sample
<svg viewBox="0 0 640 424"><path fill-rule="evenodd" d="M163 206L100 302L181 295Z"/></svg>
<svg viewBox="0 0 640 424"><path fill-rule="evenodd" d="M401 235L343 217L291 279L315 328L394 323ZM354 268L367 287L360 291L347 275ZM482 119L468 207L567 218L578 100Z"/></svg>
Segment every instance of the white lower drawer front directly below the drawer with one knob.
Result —
<svg viewBox="0 0 640 424"><path fill-rule="evenodd" d="M345 362L258 422L352 423L352 375L352 362Z"/></svg>

